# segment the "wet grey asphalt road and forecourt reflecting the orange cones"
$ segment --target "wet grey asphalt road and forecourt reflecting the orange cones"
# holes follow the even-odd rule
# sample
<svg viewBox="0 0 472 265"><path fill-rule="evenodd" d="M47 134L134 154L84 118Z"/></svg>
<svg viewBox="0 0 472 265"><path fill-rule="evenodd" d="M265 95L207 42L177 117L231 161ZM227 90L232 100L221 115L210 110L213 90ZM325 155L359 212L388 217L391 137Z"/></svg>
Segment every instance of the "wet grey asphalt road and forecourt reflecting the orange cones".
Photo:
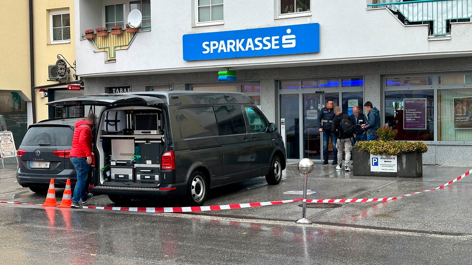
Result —
<svg viewBox="0 0 472 265"><path fill-rule="evenodd" d="M316 165L309 199L390 197L437 187L466 167L424 168L420 179L355 177ZM0 169L0 199L42 203ZM256 178L212 190L205 205L295 199L291 167L277 186ZM472 264L472 178L450 188L384 203L307 209L297 203L194 214L56 209L0 204L2 264ZM58 201L62 189L57 189ZM92 206L118 206L106 196ZM185 206L137 200L127 207ZM288 220L288 221L287 221ZM406 232L405 232L406 231Z"/></svg>

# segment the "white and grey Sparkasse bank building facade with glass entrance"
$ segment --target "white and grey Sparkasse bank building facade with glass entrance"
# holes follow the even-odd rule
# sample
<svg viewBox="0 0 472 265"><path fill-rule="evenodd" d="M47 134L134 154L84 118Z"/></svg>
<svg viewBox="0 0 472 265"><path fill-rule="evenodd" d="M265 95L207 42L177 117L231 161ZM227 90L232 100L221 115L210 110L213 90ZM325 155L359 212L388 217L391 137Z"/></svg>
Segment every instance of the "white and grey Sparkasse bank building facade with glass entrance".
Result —
<svg viewBox="0 0 472 265"><path fill-rule="evenodd" d="M371 101L382 124L398 129L397 140L428 144L424 164L471 165L468 9L443 26L405 25L411 14L402 4L365 0L266 0L258 8L248 8L253 1L175 2L178 12L157 0L75 0L76 70L85 94L244 92L279 128L285 122L287 158L315 161L322 157L317 115L326 101L346 113ZM470 0L457 2L472 8ZM84 38L99 26L125 28L133 9L143 14L139 32ZM236 71L236 81L218 81L226 70Z"/></svg>

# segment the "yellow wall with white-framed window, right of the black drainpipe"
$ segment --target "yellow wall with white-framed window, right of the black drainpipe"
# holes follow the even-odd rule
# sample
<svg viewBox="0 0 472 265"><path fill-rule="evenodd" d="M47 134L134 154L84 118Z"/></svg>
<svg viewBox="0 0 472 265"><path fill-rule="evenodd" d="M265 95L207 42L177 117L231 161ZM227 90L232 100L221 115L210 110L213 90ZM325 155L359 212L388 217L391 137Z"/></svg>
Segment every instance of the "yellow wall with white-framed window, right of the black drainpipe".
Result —
<svg viewBox="0 0 472 265"><path fill-rule="evenodd" d="M27 2L27 1L26 1ZM51 44L50 11L55 9L69 9L70 13L70 42ZM73 64L76 60L75 34L74 34L74 0L40 0L33 1L34 14L34 86L56 84L47 81L48 65L54 65L57 55L62 54L64 58ZM71 75L74 71L71 70ZM49 118L48 98L39 97L39 89L35 91L36 120L41 121Z"/></svg>

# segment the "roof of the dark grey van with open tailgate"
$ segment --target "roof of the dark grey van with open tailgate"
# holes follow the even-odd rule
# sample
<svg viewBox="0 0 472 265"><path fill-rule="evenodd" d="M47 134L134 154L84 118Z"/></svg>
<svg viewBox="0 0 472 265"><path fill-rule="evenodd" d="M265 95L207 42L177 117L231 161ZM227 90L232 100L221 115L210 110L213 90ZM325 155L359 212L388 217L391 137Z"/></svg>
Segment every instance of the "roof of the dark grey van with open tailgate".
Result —
<svg viewBox="0 0 472 265"><path fill-rule="evenodd" d="M195 104L252 104L252 100L244 93L226 91L142 91L123 94L156 97L169 106Z"/></svg>

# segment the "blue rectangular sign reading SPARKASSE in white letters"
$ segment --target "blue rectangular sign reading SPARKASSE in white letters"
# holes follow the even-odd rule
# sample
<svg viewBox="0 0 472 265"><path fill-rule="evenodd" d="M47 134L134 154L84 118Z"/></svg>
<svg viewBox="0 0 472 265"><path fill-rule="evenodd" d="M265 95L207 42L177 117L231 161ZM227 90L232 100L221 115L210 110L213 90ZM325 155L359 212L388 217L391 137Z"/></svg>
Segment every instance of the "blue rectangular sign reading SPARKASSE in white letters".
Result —
<svg viewBox="0 0 472 265"><path fill-rule="evenodd" d="M320 51L320 24L185 34L184 60L255 57Z"/></svg>

